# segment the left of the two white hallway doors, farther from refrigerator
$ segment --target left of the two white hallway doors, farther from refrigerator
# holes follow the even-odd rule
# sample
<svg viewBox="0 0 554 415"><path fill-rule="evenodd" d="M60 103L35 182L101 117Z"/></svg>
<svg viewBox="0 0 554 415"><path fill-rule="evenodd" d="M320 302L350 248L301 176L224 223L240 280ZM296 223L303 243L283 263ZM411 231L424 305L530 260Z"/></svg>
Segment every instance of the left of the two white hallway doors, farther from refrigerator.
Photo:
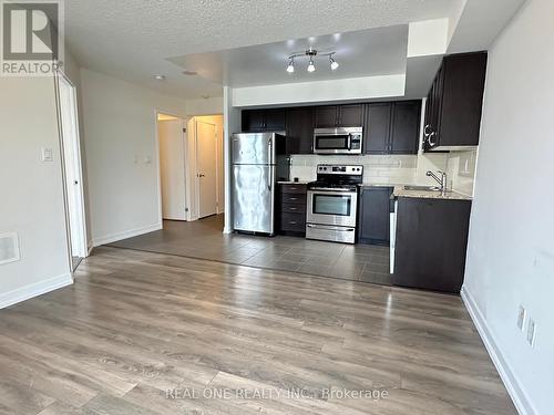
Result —
<svg viewBox="0 0 554 415"><path fill-rule="evenodd" d="M185 133L182 120L158 121L162 218L186 220Z"/></svg>

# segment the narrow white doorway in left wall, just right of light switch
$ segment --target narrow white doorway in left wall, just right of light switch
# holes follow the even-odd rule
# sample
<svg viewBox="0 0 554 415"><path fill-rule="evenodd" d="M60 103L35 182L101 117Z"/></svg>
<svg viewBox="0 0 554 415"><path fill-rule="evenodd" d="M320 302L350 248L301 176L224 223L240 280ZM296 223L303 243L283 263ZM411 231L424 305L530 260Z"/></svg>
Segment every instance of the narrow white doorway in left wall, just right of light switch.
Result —
<svg viewBox="0 0 554 415"><path fill-rule="evenodd" d="M62 72L57 80L68 234L74 271L88 256L78 101L75 86Z"/></svg>

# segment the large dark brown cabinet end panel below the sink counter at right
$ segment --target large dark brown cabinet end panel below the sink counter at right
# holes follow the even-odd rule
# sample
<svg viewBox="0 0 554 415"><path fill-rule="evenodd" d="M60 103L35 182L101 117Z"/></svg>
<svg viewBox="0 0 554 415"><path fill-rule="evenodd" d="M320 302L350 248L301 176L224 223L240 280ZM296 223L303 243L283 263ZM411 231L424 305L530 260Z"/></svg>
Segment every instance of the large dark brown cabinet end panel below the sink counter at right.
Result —
<svg viewBox="0 0 554 415"><path fill-rule="evenodd" d="M470 211L470 200L400 197L393 284L460 293Z"/></svg>

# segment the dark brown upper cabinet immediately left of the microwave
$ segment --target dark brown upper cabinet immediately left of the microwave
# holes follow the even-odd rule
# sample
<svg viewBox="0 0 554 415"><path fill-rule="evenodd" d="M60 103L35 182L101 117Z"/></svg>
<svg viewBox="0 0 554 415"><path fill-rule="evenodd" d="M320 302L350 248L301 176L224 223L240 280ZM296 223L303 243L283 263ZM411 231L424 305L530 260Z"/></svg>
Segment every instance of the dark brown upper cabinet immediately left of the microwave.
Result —
<svg viewBox="0 0 554 415"><path fill-rule="evenodd" d="M314 151L314 108L287 108L287 153L311 154Z"/></svg>

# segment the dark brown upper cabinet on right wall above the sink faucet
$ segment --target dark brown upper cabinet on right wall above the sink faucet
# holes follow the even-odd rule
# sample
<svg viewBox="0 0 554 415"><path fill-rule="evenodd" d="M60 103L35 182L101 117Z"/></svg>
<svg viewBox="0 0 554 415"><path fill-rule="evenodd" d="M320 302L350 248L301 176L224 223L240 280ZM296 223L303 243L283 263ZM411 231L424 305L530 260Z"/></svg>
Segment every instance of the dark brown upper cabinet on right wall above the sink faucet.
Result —
<svg viewBox="0 0 554 415"><path fill-rule="evenodd" d="M445 56L427 97L425 152L479 145L486 52Z"/></svg>

